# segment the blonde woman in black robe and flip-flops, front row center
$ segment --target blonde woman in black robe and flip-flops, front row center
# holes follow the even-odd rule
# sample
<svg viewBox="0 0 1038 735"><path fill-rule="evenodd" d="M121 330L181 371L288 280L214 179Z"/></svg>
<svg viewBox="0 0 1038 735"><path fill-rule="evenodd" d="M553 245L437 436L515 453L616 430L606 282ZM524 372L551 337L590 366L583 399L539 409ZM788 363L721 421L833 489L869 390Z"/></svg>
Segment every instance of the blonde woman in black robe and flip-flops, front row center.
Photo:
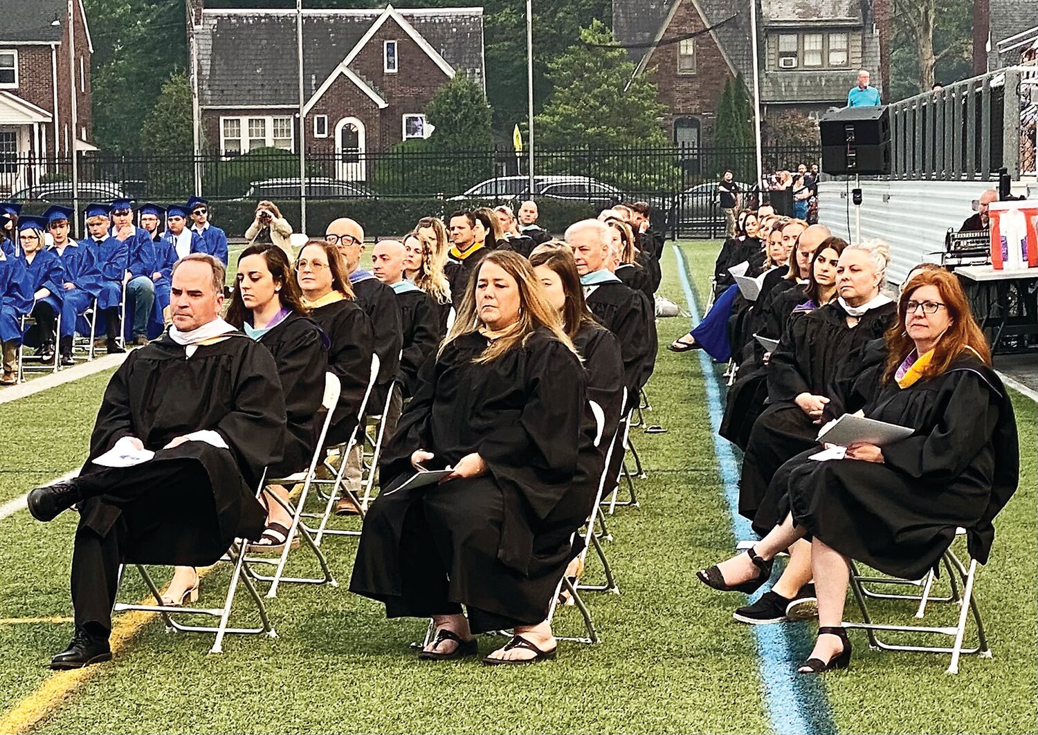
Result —
<svg viewBox="0 0 1038 735"><path fill-rule="evenodd" d="M390 618L432 617L421 658L474 655L473 633L502 629L515 635L488 663L550 658L548 604L602 460L584 370L525 258L486 256L421 377L383 454L350 589ZM405 486L444 469L436 487Z"/></svg>

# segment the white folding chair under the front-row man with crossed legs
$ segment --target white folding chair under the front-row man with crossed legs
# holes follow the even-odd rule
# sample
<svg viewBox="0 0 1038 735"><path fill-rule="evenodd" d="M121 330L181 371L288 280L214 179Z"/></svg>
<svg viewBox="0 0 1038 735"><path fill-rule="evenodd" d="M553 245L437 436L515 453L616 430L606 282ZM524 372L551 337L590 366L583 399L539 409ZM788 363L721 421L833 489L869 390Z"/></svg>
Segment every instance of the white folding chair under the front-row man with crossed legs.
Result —
<svg viewBox="0 0 1038 735"><path fill-rule="evenodd" d="M263 492L265 485L265 480L267 477L266 470L264 471L261 479L260 485L256 489L256 498ZM152 579L148 574L147 569L143 564L135 564L137 571L140 572L141 577L144 579L144 584L147 586L148 591L155 597L157 604L128 604L122 602L116 602L112 609L113 613L118 613L129 610L144 611L147 613L156 613L162 618L162 621L166 625L166 630L181 631L181 632L203 632L203 633L215 633L216 640L213 643L213 648L210 649L210 653L221 653L223 651L223 638L227 633L243 634L243 635L255 635L255 634L266 634L270 638L277 638L277 632L270 623L270 618L267 617L267 605L264 603L263 597L260 595L255 586L252 584L250 576L249 562L247 559L246 550L248 548L248 539L236 539L230 547L227 549L227 554L220 560L221 562L227 562L231 565L230 581L227 585L227 594L224 597L223 605L221 607L182 607L182 606L170 606L162 603L162 593L159 591L158 586ZM122 573L126 571L126 565L119 567L119 582L122 581ZM230 609L235 601L235 594L238 591L238 585L241 583L246 592L248 592L249 597L256 605L256 612L260 615L260 625L257 627L229 627L230 621ZM176 622L173 618L176 616L212 616L220 619L218 625L184 625Z"/></svg>

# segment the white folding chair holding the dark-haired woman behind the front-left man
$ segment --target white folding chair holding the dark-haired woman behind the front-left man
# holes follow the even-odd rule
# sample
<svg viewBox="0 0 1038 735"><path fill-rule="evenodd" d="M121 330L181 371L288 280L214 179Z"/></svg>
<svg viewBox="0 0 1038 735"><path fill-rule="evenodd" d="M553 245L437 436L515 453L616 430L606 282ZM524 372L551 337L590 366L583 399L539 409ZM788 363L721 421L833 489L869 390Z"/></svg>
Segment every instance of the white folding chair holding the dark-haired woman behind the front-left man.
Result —
<svg viewBox="0 0 1038 735"><path fill-rule="evenodd" d="M273 492L268 492L267 498L269 503L277 503L284 510L292 514L292 525L289 527L288 538L284 540L283 548L281 549L281 555L275 562L273 559L265 559L263 557L249 557L249 561L252 563L266 563L266 564L276 564L276 569L273 575L260 574L253 572L251 574L253 579L258 579L261 582L269 582L270 589L267 591L268 597L277 596L277 588L282 582L294 583L299 585L331 585L332 587L338 587L338 583L332 575L331 570L328 567L328 560L325 559L324 553L321 548L313 542L313 537L305 526L301 525L300 517L303 512L303 508L306 506L306 497L310 491L310 484L313 482L317 476L318 464L324 459L324 443L325 437L328 435L328 427L331 425L332 415L335 413L335 406L338 405L338 397L342 393L342 384L338 380L338 376L333 372L325 373L325 390L324 396L321 399L321 407L325 412L324 422L321 424L321 433L318 435L318 444L313 450L313 457L310 459L309 467L303 472L297 472L288 477L273 478L267 481L267 485L279 485L281 487L294 487L299 483L303 483L303 489L299 494L299 500L296 503L292 501L281 499L274 494ZM292 550L293 539L299 536L302 543L309 547L313 556L318 560L318 564L321 565L322 576L284 576L284 566L289 562L289 552Z"/></svg>

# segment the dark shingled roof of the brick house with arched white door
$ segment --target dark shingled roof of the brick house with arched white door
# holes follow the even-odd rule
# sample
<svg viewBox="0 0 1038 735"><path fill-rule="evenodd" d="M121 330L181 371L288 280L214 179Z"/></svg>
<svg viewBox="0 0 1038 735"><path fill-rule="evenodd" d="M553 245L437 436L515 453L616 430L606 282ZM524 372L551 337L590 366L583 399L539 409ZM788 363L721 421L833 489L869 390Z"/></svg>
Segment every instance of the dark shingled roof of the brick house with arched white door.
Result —
<svg viewBox="0 0 1038 735"><path fill-rule="evenodd" d="M310 98L321 88L388 11L303 10L304 96ZM449 67L484 82L483 8L397 8L395 12ZM196 34L202 106L298 104L295 10L207 8ZM370 80L364 82L371 85Z"/></svg>

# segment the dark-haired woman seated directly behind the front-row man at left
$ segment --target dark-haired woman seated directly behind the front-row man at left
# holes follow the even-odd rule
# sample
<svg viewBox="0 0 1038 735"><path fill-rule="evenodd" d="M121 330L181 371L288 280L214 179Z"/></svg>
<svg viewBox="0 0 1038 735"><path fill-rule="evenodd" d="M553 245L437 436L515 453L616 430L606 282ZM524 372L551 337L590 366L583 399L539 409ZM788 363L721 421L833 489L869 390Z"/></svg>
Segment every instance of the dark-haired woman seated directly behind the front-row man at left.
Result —
<svg viewBox="0 0 1038 735"><path fill-rule="evenodd" d="M268 468L268 477L286 477L309 467L317 449L328 370L328 338L306 316L302 293L288 256L280 248L254 245L238 258L235 293L227 321L270 350L284 395L284 454ZM260 326L257 326L260 324ZM271 485L267 493L288 498L286 490ZM268 525L260 547L277 547L288 538L292 518L273 500L267 500Z"/></svg>

